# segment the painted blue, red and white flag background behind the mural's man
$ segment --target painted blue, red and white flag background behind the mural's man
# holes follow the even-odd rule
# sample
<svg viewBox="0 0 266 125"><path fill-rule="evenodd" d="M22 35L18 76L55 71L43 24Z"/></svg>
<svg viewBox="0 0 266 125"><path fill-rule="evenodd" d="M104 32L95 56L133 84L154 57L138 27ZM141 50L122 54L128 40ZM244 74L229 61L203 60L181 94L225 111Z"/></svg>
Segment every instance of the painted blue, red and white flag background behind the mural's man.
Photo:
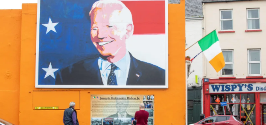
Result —
<svg viewBox="0 0 266 125"><path fill-rule="evenodd" d="M55 79L46 76L45 68L58 69L88 57L99 55L90 40L89 12L97 0L38 0L37 23L37 82L38 85L54 85ZM165 69L168 54L166 1L121 0L130 9L134 33L126 41L127 49L141 61ZM49 19L54 26L47 33ZM167 25L166 25L167 23Z"/></svg>

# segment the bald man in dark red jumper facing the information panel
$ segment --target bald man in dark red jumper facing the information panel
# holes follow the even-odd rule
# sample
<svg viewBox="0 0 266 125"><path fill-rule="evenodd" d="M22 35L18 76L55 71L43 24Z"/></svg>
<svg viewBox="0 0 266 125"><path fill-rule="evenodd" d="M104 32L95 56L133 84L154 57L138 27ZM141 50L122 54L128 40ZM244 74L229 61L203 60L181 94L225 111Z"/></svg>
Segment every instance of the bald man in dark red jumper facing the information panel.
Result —
<svg viewBox="0 0 266 125"><path fill-rule="evenodd" d="M136 125L148 125L149 113L144 110L145 106L143 103L140 104L140 111L135 113Z"/></svg>

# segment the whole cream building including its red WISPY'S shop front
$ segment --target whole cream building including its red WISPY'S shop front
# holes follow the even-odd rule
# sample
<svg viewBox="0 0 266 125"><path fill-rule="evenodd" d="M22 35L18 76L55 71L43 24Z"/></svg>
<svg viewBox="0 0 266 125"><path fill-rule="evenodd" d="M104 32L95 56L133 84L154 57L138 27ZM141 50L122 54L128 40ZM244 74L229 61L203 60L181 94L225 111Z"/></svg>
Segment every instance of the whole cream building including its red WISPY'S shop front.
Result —
<svg viewBox="0 0 266 125"><path fill-rule="evenodd" d="M225 122L222 115L236 115L243 122L264 125L266 0L202 3L203 36L216 29L226 63L217 73L203 54L203 113L206 117L218 114L218 122ZM218 97L227 106L222 106Z"/></svg>

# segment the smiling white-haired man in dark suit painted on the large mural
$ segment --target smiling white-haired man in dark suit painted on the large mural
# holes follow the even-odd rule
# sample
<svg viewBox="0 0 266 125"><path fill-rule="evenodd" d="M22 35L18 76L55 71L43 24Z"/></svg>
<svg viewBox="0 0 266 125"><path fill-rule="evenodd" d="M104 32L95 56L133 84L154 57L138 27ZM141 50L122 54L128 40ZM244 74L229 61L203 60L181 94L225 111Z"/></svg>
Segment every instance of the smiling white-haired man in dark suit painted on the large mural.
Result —
<svg viewBox="0 0 266 125"><path fill-rule="evenodd" d="M140 61L127 51L126 40L132 36L134 24L124 3L96 1L90 20L91 40L100 56L61 69L55 85L165 85L164 69Z"/></svg>

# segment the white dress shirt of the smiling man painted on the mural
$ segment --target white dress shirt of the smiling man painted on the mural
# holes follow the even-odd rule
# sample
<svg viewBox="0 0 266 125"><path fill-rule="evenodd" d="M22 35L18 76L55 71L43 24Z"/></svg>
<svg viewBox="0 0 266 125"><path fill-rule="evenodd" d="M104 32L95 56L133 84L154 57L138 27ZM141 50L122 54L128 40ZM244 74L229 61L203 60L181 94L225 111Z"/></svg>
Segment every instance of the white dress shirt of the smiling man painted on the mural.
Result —
<svg viewBox="0 0 266 125"><path fill-rule="evenodd" d="M129 52L126 51L125 56L120 59L119 61L114 63L115 66L118 68L115 70L115 76L117 80L117 85L120 86L125 86L127 77L128 77L128 72L130 68L130 55ZM107 85L107 79L111 71L111 63L108 62L107 60L104 60L102 58L98 59L98 65L100 68L100 73L102 77L102 81L104 85Z"/></svg>

